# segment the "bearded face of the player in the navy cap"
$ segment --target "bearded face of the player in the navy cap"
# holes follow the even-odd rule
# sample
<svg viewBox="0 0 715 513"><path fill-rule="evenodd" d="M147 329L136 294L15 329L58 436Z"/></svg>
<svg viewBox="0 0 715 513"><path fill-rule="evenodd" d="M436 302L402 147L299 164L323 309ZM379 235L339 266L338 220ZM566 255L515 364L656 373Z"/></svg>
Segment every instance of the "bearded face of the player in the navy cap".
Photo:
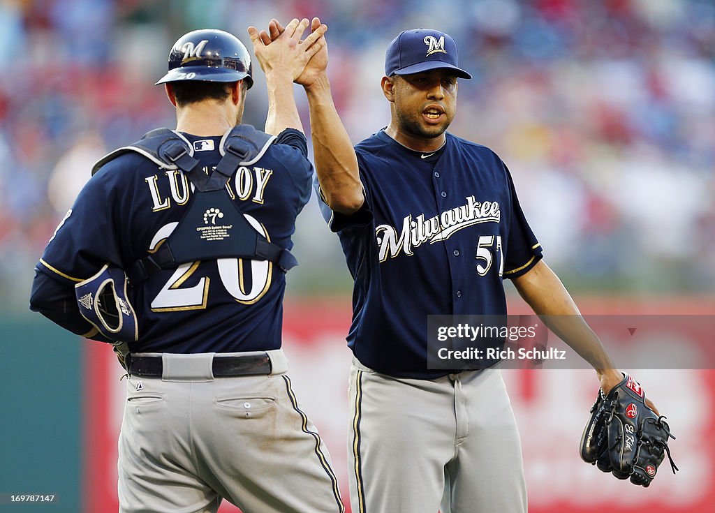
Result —
<svg viewBox="0 0 715 513"><path fill-rule="evenodd" d="M457 77L448 69L433 69L393 79L393 105L400 130L418 139L442 135L454 119Z"/></svg>

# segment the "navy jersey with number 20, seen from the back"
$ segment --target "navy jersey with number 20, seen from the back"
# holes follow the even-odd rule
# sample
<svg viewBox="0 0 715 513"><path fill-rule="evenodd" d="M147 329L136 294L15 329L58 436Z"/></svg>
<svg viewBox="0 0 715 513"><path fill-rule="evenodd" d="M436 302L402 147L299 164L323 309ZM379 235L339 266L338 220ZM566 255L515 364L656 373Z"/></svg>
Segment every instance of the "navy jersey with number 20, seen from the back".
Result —
<svg viewBox="0 0 715 513"><path fill-rule="evenodd" d="M183 135L208 173L221 159L222 138ZM283 131L227 184L249 224L285 249L292 247L295 218L310 198L312 165L306 156L305 136ZM107 262L129 269L155 251L176 228L193 190L182 171L160 169L135 152L102 166L47 244L36 266L31 307L77 334L89 332L92 326L79 314L74 285ZM222 212L207 211L205 217L220 224ZM139 340L129 349L278 349L284 292L285 273L265 260L212 259L160 270L129 290L139 327Z"/></svg>

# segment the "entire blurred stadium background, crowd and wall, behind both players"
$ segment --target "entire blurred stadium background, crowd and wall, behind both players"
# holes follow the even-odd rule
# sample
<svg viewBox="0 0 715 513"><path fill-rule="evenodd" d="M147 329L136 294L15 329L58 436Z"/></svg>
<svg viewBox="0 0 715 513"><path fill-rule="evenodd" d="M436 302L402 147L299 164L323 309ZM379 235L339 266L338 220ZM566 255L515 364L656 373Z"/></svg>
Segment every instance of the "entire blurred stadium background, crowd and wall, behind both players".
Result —
<svg viewBox="0 0 715 513"><path fill-rule="evenodd" d="M378 84L390 39L417 26L455 37L475 78L460 81L450 130L508 163L548 263L584 313L715 314L711 0L0 0L0 494L59 500L0 511L116 511L122 369L106 346L27 312L34 262L89 167L174 124L152 84L180 34L211 26L248 42L250 24L313 15L330 27L333 94L355 142L388 122ZM262 126L265 80L254 74L245 122ZM315 198L295 254L285 347L347 501L350 277ZM530 511L712 511L715 377L710 362L699 367L636 372L679 437L682 472L664 469L648 490L578 459L596 385L588 371L506 372Z"/></svg>

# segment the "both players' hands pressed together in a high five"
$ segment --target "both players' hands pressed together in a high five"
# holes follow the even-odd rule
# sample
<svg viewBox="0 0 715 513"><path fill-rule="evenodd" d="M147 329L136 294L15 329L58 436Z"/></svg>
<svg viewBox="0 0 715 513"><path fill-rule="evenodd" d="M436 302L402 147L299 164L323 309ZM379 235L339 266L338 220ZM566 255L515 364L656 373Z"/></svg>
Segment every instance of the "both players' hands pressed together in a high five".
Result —
<svg viewBox="0 0 715 513"><path fill-rule="evenodd" d="M301 39L310 24L310 34ZM310 87L327 69L327 25L320 19L292 19L287 26L272 19L268 31L248 27L253 51L263 72L290 73L292 81Z"/></svg>

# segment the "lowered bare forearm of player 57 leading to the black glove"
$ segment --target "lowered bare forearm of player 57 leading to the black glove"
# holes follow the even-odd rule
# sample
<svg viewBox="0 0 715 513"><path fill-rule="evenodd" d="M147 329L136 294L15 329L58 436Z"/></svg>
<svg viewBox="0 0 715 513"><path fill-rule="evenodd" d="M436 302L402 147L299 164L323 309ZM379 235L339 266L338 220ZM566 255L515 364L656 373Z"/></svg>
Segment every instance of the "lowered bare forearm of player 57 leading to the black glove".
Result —
<svg viewBox="0 0 715 513"><path fill-rule="evenodd" d="M516 289L544 324L579 356L586 360L599 376L613 369L611 357L601 340L588 326L556 274L541 261L529 272L513 280Z"/></svg>

